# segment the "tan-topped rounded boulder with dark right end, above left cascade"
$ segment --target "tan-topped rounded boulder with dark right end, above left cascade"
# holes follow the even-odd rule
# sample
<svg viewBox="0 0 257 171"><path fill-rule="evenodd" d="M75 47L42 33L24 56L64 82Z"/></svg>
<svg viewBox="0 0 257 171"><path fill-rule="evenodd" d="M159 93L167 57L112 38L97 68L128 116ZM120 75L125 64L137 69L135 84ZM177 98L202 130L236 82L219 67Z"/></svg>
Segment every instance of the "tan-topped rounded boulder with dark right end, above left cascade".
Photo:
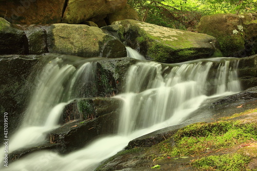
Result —
<svg viewBox="0 0 257 171"><path fill-rule="evenodd" d="M84 58L101 56L120 58L126 56L126 49L114 36L100 28L87 25L51 25L50 53L61 53Z"/></svg>

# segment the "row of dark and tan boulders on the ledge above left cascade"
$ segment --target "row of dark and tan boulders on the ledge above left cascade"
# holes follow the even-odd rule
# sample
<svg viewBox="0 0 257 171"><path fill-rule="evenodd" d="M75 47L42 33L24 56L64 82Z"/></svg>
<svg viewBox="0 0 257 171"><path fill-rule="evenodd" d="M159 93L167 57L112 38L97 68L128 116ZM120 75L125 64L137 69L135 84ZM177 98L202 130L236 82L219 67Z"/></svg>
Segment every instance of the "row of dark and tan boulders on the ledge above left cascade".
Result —
<svg viewBox="0 0 257 171"><path fill-rule="evenodd" d="M121 58L125 46L98 27L87 25L10 25L0 18L0 54L60 53Z"/></svg>

